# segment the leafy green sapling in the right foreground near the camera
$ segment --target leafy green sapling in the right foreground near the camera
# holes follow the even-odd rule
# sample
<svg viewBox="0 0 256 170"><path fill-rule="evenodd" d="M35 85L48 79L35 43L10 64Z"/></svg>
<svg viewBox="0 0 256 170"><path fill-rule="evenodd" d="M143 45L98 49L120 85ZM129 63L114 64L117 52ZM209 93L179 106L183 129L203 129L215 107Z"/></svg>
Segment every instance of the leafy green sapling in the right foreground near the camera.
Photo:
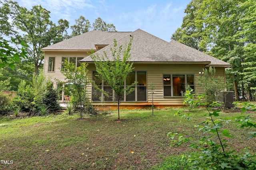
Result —
<svg viewBox="0 0 256 170"><path fill-rule="evenodd" d="M186 91L185 97L190 96L191 92L189 90ZM196 99L194 98L196 96ZM203 103L202 99L200 99L200 95L193 95L193 101L190 102L188 107L192 106L204 106L208 111L208 117L202 121L202 123L195 125L194 128L199 129L205 134L209 134L207 136L202 137L198 143L192 143L190 148L194 148L201 151L199 156L190 156L188 158L189 162L194 162L190 167L191 169L208 169L208 170L222 170L222 169L253 169L255 164L253 164L251 158L254 157L249 152L245 151L245 154L236 153L235 150L227 149L228 145L226 144L228 141L224 140L224 138L233 137L230 134L228 129L224 129L225 123L230 123L231 120L223 120L223 119L215 119L219 117L220 110L215 109L216 107L220 107L220 102L212 102ZM245 104L242 108L242 113L247 111L248 109L255 109L254 105ZM192 119L193 117L188 114L181 114L180 112L175 115L180 115L180 117L186 117L186 119ZM214 118L215 117L215 118ZM250 117L244 117L243 115L236 117L237 122L241 123L241 127L256 127L255 122L249 121ZM250 133L251 136L248 138L256 137L256 132ZM171 139L170 146L179 147L183 143L189 142L192 138L185 138L184 135L178 133L168 133L169 139ZM218 139L218 143L216 141L216 137ZM202 161L204 165L202 165Z"/></svg>

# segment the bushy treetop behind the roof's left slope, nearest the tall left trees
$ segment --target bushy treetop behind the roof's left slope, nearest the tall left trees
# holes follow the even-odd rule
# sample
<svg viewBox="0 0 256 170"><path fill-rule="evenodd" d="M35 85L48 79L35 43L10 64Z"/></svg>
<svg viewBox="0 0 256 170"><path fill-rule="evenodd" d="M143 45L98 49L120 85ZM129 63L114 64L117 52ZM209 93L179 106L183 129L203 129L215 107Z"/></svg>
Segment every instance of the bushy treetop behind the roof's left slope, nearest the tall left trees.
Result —
<svg viewBox="0 0 256 170"><path fill-rule="evenodd" d="M84 16L80 16L77 20L75 20L75 22L76 23L70 27L72 29L72 33L70 35L71 37L86 33L92 28L90 21L86 20Z"/></svg>

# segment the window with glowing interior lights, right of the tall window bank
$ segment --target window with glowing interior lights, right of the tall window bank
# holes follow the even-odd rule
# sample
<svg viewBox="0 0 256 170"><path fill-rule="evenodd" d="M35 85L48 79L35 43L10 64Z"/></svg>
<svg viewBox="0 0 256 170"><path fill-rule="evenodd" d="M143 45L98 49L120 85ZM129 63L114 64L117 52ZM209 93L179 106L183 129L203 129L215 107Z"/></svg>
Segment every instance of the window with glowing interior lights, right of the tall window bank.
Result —
<svg viewBox="0 0 256 170"><path fill-rule="evenodd" d="M195 90L193 74L164 74L163 82L164 97L182 96L186 85Z"/></svg>

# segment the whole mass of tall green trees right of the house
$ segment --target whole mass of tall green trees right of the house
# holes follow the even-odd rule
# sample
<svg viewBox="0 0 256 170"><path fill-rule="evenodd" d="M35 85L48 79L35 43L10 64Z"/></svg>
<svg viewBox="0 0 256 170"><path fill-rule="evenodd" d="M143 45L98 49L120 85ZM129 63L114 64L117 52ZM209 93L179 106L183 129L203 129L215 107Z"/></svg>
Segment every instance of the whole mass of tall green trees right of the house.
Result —
<svg viewBox="0 0 256 170"><path fill-rule="evenodd" d="M192 0L172 39L231 64L227 83L234 90L256 97L255 0Z"/></svg>

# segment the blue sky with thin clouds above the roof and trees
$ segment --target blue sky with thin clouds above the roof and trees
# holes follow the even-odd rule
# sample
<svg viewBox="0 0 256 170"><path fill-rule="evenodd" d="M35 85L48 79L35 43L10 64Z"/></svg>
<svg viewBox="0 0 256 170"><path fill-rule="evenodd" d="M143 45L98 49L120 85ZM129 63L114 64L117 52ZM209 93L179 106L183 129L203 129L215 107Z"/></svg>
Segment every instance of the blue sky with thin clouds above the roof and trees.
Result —
<svg viewBox="0 0 256 170"><path fill-rule="evenodd" d="M113 23L117 31L135 31L140 28L165 41L182 24L184 9L190 0L16 0L20 6L31 9L39 5L49 10L57 24L62 18L74 25L81 15L92 25L98 17ZM68 29L71 33L71 29Z"/></svg>

